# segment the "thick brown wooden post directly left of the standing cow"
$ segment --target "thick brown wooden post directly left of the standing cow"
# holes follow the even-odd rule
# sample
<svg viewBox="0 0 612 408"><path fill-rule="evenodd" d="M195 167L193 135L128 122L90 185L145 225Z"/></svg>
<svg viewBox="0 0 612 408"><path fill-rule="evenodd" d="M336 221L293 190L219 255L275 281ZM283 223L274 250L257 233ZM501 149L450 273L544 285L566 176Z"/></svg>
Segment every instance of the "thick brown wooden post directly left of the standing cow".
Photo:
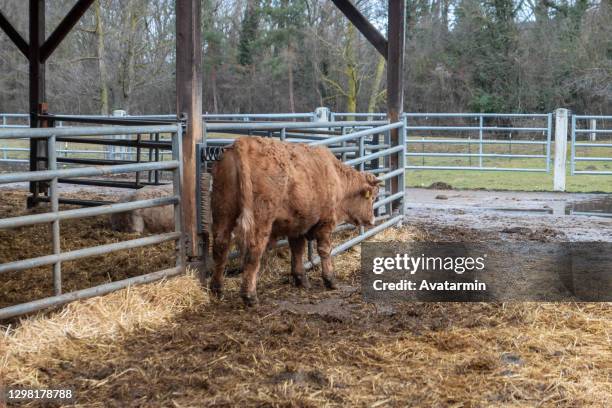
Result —
<svg viewBox="0 0 612 408"><path fill-rule="evenodd" d="M196 208L196 143L202 137L200 0L176 0L176 112L187 119L183 134L183 229L189 257L199 254ZM201 254L205 256L205 254Z"/></svg>

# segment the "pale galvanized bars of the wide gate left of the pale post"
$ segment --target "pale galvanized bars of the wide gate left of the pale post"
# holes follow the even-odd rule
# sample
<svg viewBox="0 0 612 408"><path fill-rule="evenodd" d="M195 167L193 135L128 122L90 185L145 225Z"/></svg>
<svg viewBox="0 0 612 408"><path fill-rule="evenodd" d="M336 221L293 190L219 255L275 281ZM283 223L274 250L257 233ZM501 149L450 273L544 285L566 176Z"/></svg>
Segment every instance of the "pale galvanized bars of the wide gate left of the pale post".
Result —
<svg viewBox="0 0 612 408"><path fill-rule="evenodd" d="M473 125L416 125L417 121L427 120L448 120L476 122ZM479 171L528 171L528 172L550 172L551 169L551 140L552 140L552 114L486 114L486 113L406 113L406 142L408 150L406 155L407 169L415 170L479 170ZM487 121L512 120L539 120L540 126L515 126L509 125L487 125ZM506 138L499 137L505 133ZM449 135L450 136L447 136ZM527 137L525 135L527 134ZM454 137L453 137L454 135ZM493 135L491 137L490 135ZM435 152L426 151L425 146L466 146L467 152ZM416 151L417 147L421 151ZM472 152L472 146L476 146L477 151ZM507 153L486 152L487 146L506 146ZM513 153L513 146L540 146L541 153ZM413 151L410 148L414 147ZM449 164L425 164L425 158L446 158L446 159L468 159L470 164L449 165ZM422 158L422 163L417 163L414 158ZM471 159L477 159L477 163L472 165ZM500 167L487 166L485 159L538 159L540 166L530 167Z"/></svg>

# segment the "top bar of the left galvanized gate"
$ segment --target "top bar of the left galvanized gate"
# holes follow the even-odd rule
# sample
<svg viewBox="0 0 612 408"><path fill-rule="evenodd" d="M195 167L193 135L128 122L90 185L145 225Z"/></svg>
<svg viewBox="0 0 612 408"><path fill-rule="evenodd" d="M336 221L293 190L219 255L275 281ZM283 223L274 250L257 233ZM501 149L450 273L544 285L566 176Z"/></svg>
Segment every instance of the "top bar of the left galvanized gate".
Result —
<svg viewBox="0 0 612 408"><path fill-rule="evenodd" d="M46 138L51 135L55 135L59 138L60 136L113 136L120 134L135 135L138 133L176 133L178 126L179 125L0 129L0 139Z"/></svg>

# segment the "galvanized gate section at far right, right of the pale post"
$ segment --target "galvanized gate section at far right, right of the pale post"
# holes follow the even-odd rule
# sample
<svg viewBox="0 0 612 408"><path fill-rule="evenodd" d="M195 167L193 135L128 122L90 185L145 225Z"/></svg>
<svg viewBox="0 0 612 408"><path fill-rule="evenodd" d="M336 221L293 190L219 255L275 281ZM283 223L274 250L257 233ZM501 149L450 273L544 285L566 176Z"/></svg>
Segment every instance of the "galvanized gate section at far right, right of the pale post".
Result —
<svg viewBox="0 0 612 408"><path fill-rule="evenodd" d="M612 162L612 116L572 115L572 133L570 147L570 173L575 174L599 174L611 175L612 170L577 169L578 162L593 164ZM607 141L602 141L601 136L608 136ZM582 137L581 137L582 136ZM599 137L599 140L597 140ZM579 140L582 139L582 140ZM576 148L582 150L577 152ZM593 149L601 149L607 152L605 156L598 153L597 156L588 155Z"/></svg>

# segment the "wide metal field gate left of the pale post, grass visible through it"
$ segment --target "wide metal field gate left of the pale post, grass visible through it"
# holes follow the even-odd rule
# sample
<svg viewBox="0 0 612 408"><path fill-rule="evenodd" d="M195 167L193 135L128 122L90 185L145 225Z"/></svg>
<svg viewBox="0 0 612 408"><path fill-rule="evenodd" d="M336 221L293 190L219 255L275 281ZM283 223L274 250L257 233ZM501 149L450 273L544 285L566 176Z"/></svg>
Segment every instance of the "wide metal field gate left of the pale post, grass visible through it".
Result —
<svg viewBox="0 0 612 408"><path fill-rule="evenodd" d="M407 169L550 172L552 113L406 113L404 119Z"/></svg>

